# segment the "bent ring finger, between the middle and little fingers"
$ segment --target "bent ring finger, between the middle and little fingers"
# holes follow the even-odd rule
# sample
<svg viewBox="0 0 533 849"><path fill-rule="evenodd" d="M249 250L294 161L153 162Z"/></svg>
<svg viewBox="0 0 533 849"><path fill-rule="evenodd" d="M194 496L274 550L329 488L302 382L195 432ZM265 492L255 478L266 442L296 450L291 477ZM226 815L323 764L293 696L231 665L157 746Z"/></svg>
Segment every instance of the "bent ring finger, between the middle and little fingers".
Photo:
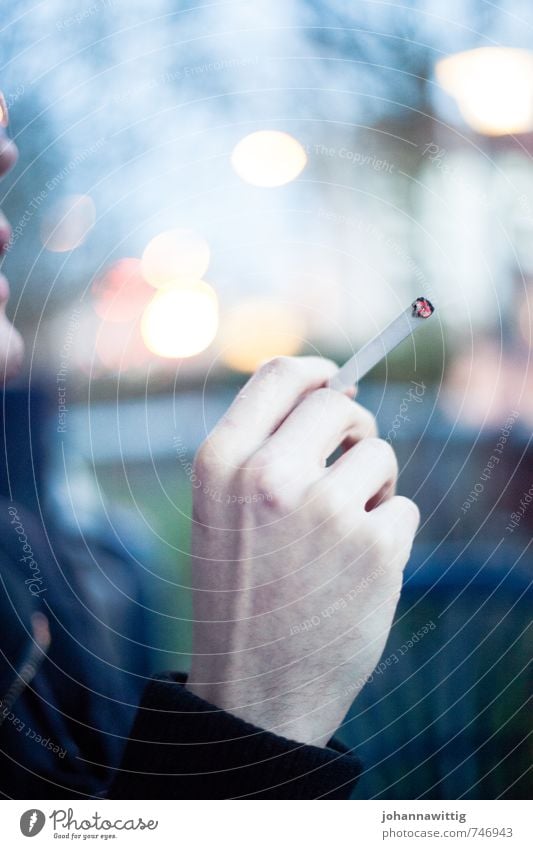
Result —
<svg viewBox="0 0 533 849"><path fill-rule="evenodd" d="M350 448L324 476L328 489L350 497L354 510L371 509L372 501L390 497L398 478L398 461L388 442L383 439L364 439Z"/></svg>

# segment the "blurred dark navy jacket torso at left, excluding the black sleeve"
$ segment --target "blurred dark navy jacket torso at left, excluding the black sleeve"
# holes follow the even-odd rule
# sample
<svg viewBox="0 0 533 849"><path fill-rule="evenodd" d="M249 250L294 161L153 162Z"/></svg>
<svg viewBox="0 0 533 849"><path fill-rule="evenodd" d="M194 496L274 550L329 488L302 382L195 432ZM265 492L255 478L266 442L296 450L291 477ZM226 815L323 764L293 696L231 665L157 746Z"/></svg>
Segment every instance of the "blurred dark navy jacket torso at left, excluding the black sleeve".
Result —
<svg viewBox="0 0 533 849"><path fill-rule="evenodd" d="M105 791L146 682L136 596L126 562L0 499L0 797Z"/></svg>

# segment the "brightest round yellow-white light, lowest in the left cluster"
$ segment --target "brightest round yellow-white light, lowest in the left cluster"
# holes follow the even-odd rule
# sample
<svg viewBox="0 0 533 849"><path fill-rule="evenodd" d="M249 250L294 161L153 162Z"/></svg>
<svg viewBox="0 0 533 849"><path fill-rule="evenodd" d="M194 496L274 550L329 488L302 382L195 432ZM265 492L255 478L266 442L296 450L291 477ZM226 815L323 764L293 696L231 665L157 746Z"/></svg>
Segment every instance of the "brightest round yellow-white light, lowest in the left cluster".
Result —
<svg viewBox="0 0 533 849"><path fill-rule="evenodd" d="M161 289L141 322L146 347L159 357L193 357L211 344L217 328L217 296L204 281Z"/></svg>

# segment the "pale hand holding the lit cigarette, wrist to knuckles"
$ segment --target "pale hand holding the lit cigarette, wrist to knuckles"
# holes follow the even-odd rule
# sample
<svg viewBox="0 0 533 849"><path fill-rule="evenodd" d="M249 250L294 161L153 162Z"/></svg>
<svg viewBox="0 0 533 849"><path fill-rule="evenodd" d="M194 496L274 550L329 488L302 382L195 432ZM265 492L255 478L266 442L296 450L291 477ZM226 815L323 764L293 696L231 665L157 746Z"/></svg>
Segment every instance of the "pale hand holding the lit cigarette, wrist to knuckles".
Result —
<svg viewBox="0 0 533 849"><path fill-rule="evenodd" d="M317 357L262 367L193 477L188 687L322 746L383 652L419 522L371 414L324 388L335 370Z"/></svg>

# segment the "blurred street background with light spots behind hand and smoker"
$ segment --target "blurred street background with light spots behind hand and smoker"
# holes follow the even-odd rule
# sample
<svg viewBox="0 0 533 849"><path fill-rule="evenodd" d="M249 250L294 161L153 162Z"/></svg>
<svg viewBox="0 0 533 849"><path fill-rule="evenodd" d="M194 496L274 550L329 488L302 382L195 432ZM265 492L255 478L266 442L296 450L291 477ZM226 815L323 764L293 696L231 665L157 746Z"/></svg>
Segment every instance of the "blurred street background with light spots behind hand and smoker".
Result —
<svg viewBox="0 0 533 849"><path fill-rule="evenodd" d="M428 296L360 389L423 522L341 735L360 798L527 797L531 4L0 8L2 492L127 557L139 651L186 668L197 446L266 358L341 362Z"/></svg>

